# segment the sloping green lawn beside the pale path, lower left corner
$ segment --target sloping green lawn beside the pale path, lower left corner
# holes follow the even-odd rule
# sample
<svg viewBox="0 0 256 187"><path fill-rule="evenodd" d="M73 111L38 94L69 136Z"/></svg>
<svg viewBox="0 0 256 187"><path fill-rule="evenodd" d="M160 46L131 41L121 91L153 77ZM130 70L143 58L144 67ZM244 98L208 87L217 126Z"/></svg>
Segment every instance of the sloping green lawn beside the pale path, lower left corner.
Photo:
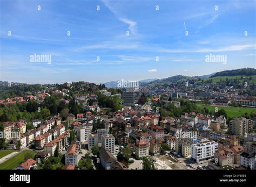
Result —
<svg viewBox="0 0 256 187"><path fill-rule="evenodd" d="M0 169L14 169L14 168L18 167L19 164L21 164L25 160L25 155L27 153L30 153L33 155L36 154L36 152L33 150L24 150L24 152L21 152L21 153L15 155L14 157L12 157L11 159L1 163Z"/></svg>

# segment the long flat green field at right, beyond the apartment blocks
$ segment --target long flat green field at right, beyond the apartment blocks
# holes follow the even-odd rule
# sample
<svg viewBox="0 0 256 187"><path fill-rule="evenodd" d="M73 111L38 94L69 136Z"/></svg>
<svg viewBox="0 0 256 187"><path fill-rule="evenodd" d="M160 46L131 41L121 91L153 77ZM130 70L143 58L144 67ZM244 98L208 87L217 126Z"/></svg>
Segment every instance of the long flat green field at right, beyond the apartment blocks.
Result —
<svg viewBox="0 0 256 187"><path fill-rule="evenodd" d="M250 108L250 107L214 106L214 105L204 105L201 103L197 103L197 106L200 108L207 107L209 111L214 111L215 107L218 107L218 110L224 109L228 117L229 116L240 117L242 116L242 114L245 114L245 113L250 114L251 112L256 112L255 108Z"/></svg>

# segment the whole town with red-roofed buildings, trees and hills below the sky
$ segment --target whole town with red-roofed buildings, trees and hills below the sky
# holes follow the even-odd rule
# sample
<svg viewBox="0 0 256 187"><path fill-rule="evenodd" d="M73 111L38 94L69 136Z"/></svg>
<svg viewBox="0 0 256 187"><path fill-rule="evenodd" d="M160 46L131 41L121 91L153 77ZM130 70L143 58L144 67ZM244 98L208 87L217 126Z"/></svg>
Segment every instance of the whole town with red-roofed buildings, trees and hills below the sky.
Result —
<svg viewBox="0 0 256 187"><path fill-rule="evenodd" d="M255 170L255 69L247 70L138 88L1 82L0 169Z"/></svg>

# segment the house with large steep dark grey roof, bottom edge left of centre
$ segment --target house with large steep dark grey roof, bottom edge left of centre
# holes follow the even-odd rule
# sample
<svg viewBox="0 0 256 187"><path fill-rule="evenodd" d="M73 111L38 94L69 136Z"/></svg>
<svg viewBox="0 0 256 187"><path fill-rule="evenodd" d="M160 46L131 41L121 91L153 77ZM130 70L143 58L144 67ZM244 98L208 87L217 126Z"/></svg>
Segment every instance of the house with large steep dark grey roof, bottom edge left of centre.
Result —
<svg viewBox="0 0 256 187"><path fill-rule="evenodd" d="M116 157L114 157L109 150L104 148L99 149L99 160L104 169L110 169L111 164L117 161Z"/></svg>

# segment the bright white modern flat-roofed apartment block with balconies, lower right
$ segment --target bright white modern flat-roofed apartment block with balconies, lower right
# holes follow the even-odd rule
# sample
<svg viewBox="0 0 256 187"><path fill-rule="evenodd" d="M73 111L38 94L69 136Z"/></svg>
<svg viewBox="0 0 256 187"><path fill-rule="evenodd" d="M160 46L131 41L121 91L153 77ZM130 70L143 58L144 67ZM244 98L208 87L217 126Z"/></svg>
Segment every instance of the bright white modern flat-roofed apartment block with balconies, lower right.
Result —
<svg viewBox="0 0 256 187"><path fill-rule="evenodd" d="M200 141L191 145L192 160L201 163L213 159L214 153L218 150L218 143L212 140Z"/></svg>

